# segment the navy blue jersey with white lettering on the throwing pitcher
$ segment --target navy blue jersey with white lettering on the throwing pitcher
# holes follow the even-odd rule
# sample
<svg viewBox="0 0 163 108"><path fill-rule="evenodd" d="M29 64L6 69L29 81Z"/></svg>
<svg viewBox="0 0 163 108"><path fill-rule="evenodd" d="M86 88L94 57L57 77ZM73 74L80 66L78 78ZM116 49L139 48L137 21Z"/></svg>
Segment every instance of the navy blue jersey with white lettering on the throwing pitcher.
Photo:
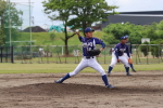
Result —
<svg viewBox="0 0 163 108"><path fill-rule="evenodd" d="M83 56L89 56L88 51L95 50L96 44L101 44L103 49L105 48L103 41L98 38L78 37L78 39L83 42Z"/></svg>

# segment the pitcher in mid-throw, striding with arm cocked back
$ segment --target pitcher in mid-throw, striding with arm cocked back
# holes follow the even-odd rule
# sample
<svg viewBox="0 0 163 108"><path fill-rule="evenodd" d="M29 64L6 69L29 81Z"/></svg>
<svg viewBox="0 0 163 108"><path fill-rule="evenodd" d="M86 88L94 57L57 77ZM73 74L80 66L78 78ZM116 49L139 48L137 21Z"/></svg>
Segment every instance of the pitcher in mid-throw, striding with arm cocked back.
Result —
<svg viewBox="0 0 163 108"><path fill-rule="evenodd" d="M88 53L88 51L96 49L96 44L101 44L102 45L100 51L102 51L105 48L105 44L103 43L103 41L101 41L98 38L92 37L93 31L95 31L93 29L91 29L90 27L87 27L85 29L86 37L82 37L78 32L76 32L77 36L78 36L78 39L80 40L80 42L83 42L83 58L82 58L82 62L78 64L78 66L75 68L74 71L68 72L66 76L64 76L60 80L54 81L55 83L62 83L64 80L77 75L84 68L91 67L95 70L100 72L100 75L102 77L102 80L103 80L106 87L110 87L110 89L114 87L111 84L109 84L105 71L103 70L101 65L97 62L96 56L90 56L89 53Z"/></svg>

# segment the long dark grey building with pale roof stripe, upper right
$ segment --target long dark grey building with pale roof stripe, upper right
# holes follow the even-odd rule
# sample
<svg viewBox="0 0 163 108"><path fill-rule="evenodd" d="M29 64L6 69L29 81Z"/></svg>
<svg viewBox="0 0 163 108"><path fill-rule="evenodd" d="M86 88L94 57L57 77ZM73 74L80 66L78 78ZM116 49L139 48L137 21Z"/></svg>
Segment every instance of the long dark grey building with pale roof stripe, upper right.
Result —
<svg viewBox="0 0 163 108"><path fill-rule="evenodd" d="M163 21L163 11L141 11L141 12L120 12L120 14L110 15L108 22L102 22L101 27L104 28L109 24L126 23L135 25L150 25Z"/></svg>

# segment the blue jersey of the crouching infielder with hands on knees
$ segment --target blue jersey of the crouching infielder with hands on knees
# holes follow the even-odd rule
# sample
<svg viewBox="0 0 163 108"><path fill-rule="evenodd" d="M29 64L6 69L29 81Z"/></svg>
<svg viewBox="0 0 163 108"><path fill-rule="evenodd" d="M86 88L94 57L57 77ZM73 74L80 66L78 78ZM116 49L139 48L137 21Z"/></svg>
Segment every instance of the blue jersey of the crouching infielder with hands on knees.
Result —
<svg viewBox="0 0 163 108"><path fill-rule="evenodd" d="M118 56L124 55L124 53L127 53L128 57L130 57L130 56L129 56L128 46L127 46L126 44L117 43L117 44L115 45L114 51L115 51L115 55L116 55L116 58L117 58L117 59L118 59Z"/></svg>

